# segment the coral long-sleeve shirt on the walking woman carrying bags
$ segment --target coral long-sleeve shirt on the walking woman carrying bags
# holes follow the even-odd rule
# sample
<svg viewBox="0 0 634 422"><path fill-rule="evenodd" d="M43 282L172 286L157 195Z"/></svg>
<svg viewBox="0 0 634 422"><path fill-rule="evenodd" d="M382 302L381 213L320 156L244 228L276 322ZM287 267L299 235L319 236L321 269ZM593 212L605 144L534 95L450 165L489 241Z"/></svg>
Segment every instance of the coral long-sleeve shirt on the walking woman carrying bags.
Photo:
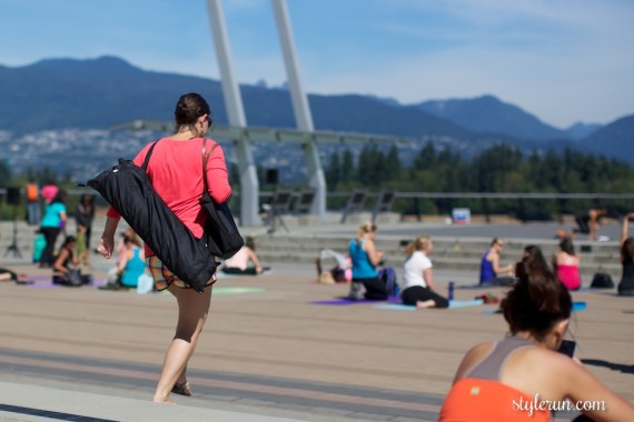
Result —
<svg viewBox="0 0 634 422"><path fill-rule="evenodd" d="M135 164L142 165L151 144L148 143L135 157L132 160ZM214 141L207 140L206 151L209 151ZM204 189L202 140L194 138L177 141L162 138L152 151L147 172L155 190L169 209L196 238L200 238L207 219L199 203ZM220 145L214 149L207 161L207 188L209 195L218 203L227 201L231 195L229 173ZM107 215L113 219L120 218L112 207ZM152 254L151 250L146 247L146 257Z"/></svg>

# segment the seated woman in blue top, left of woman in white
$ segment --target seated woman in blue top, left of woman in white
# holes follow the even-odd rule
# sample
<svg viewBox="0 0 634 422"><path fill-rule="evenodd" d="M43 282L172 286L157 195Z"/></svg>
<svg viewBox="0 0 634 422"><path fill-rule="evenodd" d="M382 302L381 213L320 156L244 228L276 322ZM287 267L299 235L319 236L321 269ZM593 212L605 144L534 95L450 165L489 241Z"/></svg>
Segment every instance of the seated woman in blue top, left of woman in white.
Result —
<svg viewBox="0 0 634 422"><path fill-rule="evenodd" d="M360 285L366 290L366 299L387 299L386 284L377 278L376 267L383 260L384 252L378 252L374 244L376 225L368 221L357 230L357 238L350 240L348 253L353 261L353 284L350 298L359 298Z"/></svg>

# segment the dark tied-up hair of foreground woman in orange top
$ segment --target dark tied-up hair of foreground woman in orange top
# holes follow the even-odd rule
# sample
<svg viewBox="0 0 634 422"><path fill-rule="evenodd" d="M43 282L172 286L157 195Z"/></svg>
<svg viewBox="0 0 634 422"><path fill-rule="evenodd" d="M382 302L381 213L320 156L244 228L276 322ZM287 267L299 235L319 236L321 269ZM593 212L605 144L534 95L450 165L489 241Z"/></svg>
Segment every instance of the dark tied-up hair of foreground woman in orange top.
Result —
<svg viewBox="0 0 634 422"><path fill-rule="evenodd" d="M557 322L571 318L571 293L547 268L532 267L501 303L512 334L527 331L542 341Z"/></svg>

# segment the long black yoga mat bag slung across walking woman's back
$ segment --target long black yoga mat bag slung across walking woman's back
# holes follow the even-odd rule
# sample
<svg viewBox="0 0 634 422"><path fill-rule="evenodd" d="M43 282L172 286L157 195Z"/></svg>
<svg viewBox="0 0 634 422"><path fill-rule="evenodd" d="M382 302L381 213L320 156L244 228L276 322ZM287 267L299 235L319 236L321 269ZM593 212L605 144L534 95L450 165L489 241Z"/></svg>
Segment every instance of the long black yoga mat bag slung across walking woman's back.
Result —
<svg viewBox="0 0 634 422"><path fill-rule="evenodd" d="M142 167L119 159L118 165L99 173L87 184L121 214L171 272L202 292L218 263L205 241L196 239L155 191L146 169L156 143L150 147Z"/></svg>

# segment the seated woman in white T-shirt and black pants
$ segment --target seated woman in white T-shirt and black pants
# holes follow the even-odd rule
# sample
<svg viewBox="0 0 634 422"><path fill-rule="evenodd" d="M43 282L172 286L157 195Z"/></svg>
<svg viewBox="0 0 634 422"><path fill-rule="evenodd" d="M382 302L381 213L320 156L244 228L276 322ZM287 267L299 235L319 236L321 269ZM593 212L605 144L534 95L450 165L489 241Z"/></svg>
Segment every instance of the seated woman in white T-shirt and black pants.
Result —
<svg viewBox="0 0 634 422"><path fill-rule="evenodd" d="M423 308L448 308L449 301L434 290L434 270L428 254L434 243L428 235L419 235L405 247L403 265L403 304Z"/></svg>

